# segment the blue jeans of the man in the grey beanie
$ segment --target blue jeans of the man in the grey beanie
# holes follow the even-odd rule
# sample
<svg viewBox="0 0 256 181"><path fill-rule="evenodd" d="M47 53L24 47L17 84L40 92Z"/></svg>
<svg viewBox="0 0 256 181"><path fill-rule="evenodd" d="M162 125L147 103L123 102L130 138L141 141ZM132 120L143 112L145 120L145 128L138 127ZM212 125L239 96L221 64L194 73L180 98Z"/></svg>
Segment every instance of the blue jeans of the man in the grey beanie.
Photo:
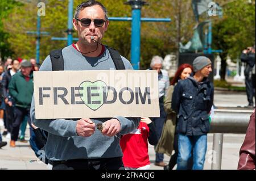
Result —
<svg viewBox="0 0 256 181"><path fill-rule="evenodd" d="M200 136L186 136L179 134L177 170L188 169L188 160L191 157L193 148L193 167L192 170L203 170L205 154L207 151L207 134Z"/></svg>

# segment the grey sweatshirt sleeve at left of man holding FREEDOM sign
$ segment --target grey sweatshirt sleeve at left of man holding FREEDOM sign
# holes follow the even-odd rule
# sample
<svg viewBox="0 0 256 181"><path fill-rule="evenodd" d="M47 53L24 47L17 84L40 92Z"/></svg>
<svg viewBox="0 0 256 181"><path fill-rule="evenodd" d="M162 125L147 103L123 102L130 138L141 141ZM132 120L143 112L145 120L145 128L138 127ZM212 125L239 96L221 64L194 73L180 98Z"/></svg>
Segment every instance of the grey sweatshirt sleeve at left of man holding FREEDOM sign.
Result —
<svg viewBox="0 0 256 181"><path fill-rule="evenodd" d="M51 59L49 56L44 60L39 71L52 71ZM51 134L63 137L77 136L76 133L76 124L77 121L73 120L64 120L64 119L35 119L35 100L34 95L32 97L30 115L32 123Z"/></svg>

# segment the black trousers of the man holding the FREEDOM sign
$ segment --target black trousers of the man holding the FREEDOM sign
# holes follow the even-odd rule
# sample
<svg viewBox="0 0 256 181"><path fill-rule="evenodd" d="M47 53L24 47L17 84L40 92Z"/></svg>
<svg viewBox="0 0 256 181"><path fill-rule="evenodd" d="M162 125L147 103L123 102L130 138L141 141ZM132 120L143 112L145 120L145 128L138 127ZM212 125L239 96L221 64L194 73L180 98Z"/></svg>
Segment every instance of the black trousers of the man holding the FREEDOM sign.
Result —
<svg viewBox="0 0 256 181"><path fill-rule="evenodd" d="M122 157L53 161L52 170L125 170Z"/></svg>

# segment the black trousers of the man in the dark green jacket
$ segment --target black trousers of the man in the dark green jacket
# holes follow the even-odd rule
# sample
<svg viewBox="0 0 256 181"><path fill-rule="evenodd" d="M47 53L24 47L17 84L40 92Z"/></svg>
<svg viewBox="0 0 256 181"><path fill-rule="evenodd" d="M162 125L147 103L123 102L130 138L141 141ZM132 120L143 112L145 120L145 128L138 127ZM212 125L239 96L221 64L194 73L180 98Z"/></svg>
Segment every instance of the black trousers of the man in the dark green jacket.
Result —
<svg viewBox="0 0 256 181"><path fill-rule="evenodd" d="M14 141L18 140L19 127L22 121L24 120L25 116L27 116L27 122L31 127L30 108L22 108L18 106L14 107L14 123L13 123L13 128L11 129L11 140L14 140Z"/></svg>

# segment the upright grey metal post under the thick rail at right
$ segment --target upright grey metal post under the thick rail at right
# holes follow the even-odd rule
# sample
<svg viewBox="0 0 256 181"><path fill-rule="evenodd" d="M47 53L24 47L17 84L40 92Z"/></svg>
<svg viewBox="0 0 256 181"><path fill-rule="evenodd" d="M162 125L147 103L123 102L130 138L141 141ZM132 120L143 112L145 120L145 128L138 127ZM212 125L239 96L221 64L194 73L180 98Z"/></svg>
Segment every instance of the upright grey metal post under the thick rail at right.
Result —
<svg viewBox="0 0 256 181"><path fill-rule="evenodd" d="M212 170L221 170L223 133L213 134Z"/></svg>

